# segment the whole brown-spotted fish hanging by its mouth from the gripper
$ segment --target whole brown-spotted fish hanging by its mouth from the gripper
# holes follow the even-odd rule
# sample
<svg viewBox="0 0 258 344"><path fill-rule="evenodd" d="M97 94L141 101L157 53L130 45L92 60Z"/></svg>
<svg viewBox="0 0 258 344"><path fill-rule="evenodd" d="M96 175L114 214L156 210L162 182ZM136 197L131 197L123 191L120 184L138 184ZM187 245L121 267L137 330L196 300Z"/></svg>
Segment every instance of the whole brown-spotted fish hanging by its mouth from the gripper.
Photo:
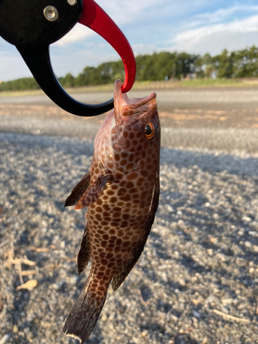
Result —
<svg viewBox="0 0 258 344"><path fill-rule="evenodd" d="M72 189L65 206L87 207L87 224L77 257L78 273L89 260L89 277L63 332L85 343L107 297L138 261L158 209L160 120L156 94L129 98L114 85L114 110L94 141L90 171Z"/></svg>

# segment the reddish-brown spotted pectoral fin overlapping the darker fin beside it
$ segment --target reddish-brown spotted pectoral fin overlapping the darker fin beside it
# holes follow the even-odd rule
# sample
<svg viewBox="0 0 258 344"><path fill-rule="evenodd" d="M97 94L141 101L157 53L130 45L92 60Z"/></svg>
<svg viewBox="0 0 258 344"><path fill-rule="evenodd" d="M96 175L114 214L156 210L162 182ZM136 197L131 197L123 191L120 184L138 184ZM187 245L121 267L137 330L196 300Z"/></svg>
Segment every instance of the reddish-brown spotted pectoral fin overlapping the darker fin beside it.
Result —
<svg viewBox="0 0 258 344"><path fill-rule="evenodd" d="M94 204L102 195L110 177L111 174L99 175L95 182L89 186L89 189L87 189L85 193L83 193L82 197L80 197L80 200L78 200L78 203L74 209L82 209L86 206Z"/></svg>

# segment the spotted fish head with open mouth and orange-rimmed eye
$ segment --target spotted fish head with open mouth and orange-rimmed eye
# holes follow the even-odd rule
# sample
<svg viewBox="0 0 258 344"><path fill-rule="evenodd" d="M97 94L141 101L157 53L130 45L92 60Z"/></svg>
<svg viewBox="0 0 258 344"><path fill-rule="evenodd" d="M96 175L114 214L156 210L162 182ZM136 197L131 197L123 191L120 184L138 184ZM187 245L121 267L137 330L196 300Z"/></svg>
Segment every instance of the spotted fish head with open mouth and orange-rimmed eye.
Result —
<svg viewBox="0 0 258 344"><path fill-rule="evenodd" d="M121 92L121 81L114 87L114 110L107 114L98 132L95 149L105 171L130 173L148 154L160 159L160 120L156 94L129 98Z"/></svg>

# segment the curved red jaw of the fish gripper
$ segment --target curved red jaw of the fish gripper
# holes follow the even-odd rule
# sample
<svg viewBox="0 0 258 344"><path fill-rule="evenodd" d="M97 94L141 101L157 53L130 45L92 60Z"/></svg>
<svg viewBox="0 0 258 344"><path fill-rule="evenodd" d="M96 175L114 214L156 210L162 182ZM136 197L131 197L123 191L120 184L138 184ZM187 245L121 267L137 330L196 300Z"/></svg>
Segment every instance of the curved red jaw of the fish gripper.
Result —
<svg viewBox="0 0 258 344"><path fill-rule="evenodd" d="M94 0L83 0L83 14L78 22L100 34L118 52L125 66L121 90L128 92L136 78L136 59L125 35Z"/></svg>

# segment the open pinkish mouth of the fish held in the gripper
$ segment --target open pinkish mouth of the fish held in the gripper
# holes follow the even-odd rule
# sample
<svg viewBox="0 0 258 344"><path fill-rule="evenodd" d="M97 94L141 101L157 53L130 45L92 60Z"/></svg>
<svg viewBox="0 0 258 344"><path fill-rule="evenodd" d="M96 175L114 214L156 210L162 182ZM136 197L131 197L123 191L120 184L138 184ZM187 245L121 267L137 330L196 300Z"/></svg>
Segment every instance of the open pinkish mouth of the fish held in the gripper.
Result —
<svg viewBox="0 0 258 344"><path fill-rule="evenodd" d="M118 117L129 117L139 114L141 108L142 111L148 111L148 109L156 106L156 102L154 101L156 96L157 94L155 92L151 92L147 97L129 98L126 93L122 94L121 92L121 80L116 80L114 87L115 113Z"/></svg>

